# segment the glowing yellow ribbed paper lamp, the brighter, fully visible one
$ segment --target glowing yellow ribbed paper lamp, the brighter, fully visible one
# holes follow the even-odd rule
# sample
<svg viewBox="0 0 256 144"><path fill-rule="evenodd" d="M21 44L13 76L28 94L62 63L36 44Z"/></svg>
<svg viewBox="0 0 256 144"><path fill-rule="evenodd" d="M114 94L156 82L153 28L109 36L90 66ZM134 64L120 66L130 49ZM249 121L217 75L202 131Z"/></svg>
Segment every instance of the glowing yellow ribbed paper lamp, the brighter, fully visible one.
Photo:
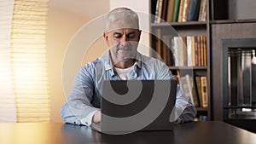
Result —
<svg viewBox="0 0 256 144"><path fill-rule="evenodd" d="M11 58L18 122L49 122L47 14L48 0L15 0Z"/></svg>

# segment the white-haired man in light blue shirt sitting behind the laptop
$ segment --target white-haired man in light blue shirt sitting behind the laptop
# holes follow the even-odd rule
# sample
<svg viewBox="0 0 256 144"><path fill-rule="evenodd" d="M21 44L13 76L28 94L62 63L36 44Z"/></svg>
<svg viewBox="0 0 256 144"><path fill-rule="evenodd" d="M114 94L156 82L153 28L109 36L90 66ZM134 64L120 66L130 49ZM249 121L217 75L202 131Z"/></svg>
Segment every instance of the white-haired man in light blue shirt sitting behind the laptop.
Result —
<svg viewBox="0 0 256 144"><path fill-rule="evenodd" d="M87 63L78 72L61 117L67 123L90 125L101 122L101 90L104 80L172 79L172 72L160 60L137 52L141 36L138 15L131 9L109 12L103 37L108 54ZM177 85L178 123L193 121L195 107Z"/></svg>

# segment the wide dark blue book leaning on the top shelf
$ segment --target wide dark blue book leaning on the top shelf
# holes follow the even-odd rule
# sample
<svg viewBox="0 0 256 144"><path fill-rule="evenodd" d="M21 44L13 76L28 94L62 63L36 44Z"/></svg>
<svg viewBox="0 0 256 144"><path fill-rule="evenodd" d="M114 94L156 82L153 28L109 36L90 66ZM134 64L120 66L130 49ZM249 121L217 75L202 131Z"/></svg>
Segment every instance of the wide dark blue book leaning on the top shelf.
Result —
<svg viewBox="0 0 256 144"><path fill-rule="evenodd" d="M201 0L191 0L189 4L188 21L197 21Z"/></svg>

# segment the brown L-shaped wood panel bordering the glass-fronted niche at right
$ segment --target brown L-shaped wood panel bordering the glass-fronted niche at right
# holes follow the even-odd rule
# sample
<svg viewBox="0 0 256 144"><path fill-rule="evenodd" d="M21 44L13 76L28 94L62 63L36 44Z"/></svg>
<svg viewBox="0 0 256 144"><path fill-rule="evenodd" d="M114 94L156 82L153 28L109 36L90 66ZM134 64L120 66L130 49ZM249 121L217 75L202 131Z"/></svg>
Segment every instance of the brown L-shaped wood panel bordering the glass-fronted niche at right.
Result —
<svg viewBox="0 0 256 144"><path fill-rule="evenodd" d="M256 23L212 24L212 120L223 120L223 98L221 95L221 41L227 38L256 37Z"/></svg>

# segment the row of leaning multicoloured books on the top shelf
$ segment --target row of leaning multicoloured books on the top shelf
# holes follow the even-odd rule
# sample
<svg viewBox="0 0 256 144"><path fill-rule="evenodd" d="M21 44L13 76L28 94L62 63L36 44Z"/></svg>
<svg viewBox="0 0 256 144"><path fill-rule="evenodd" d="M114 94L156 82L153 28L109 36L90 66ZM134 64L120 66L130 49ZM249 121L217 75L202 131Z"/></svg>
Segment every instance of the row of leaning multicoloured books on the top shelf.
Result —
<svg viewBox="0 0 256 144"><path fill-rule="evenodd" d="M156 0L154 23L207 20L207 0Z"/></svg>

